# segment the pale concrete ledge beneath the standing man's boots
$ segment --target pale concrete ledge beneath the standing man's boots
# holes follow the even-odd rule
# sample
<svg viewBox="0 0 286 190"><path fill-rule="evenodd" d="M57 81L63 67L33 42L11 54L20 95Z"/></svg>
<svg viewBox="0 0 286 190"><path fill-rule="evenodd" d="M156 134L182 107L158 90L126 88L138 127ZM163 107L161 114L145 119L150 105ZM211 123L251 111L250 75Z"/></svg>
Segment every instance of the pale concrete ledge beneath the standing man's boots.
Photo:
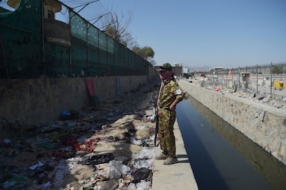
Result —
<svg viewBox="0 0 286 190"><path fill-rule="evenodd" d="M184 149L184 141L178 123L174 125L176 155L179 162L174 165L163 165L164 160L155 160L153 171L152 189L154 190L173 190L173 189L198 189L198 185L193 176L193 170ZM155 154L160 154L160 146L156 147Z"/></svg>

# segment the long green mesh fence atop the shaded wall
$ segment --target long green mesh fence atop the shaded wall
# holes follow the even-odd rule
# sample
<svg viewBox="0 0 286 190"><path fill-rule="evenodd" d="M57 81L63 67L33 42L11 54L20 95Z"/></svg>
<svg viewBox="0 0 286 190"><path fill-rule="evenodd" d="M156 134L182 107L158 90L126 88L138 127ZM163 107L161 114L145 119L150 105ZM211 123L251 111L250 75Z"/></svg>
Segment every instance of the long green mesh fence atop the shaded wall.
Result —
<svg viewBox="0 0 286 190"><path fill-rule="evenodd" d="M71 46L44 39L43 2L22 0L14 12L0 13L0 78L146 74L148 62L71 8Z"/></svg>

